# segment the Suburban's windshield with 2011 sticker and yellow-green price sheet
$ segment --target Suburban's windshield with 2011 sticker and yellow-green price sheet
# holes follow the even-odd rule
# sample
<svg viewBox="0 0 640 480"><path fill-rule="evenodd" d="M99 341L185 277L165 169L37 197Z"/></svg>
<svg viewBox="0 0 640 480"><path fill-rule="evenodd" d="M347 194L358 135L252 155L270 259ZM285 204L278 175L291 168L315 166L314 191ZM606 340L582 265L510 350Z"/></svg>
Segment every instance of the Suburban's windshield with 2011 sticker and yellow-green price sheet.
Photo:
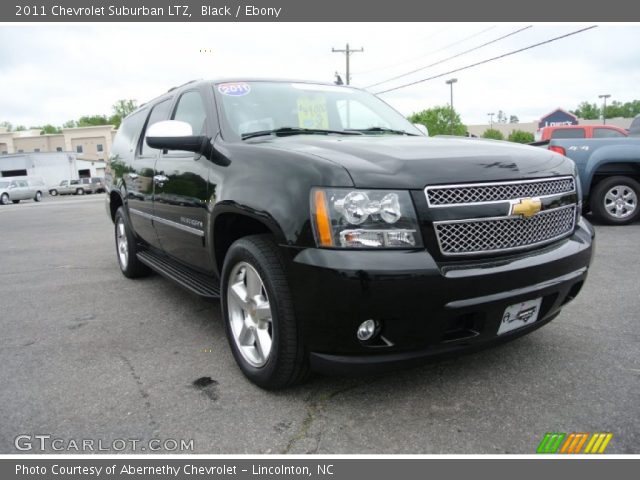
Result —
<svg viewBox="0 0 640 480"><path fill-rule="evenodd" d="M290 82L234 82L215 85L223 134L244 135L276 129L310 129L339 134L421 133L382 100L370 93L333 85ZM291 133L291 132L289 132Z"/></svg>

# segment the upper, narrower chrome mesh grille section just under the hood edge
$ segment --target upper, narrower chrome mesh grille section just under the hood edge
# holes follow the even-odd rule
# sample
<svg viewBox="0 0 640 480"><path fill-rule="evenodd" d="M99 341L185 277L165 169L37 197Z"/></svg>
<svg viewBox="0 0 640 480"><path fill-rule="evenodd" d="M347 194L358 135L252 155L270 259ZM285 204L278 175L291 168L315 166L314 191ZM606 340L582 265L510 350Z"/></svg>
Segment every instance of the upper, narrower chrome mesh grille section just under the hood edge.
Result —
<svg viewBox="0 0 640 480"><path fill-rule="evenodd" d="M430 206L504 202L524 197L544 197L575 192L573 177L518 182L477 183L427 187Z"/></svg>

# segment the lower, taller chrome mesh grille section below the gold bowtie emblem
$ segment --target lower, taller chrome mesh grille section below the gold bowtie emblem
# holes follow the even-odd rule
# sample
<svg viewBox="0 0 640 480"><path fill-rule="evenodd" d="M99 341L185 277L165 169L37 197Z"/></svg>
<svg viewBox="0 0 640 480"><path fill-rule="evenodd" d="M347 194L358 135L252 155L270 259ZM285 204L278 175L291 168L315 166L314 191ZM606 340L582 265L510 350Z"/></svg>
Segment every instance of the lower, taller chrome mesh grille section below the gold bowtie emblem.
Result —
<svg viewBox="0 0 640 480"><path fill-rule="evenodd" d="M533 217L434 222L443 255L473 255L542 245L573 231L576 205L546 210Z"/></svg>

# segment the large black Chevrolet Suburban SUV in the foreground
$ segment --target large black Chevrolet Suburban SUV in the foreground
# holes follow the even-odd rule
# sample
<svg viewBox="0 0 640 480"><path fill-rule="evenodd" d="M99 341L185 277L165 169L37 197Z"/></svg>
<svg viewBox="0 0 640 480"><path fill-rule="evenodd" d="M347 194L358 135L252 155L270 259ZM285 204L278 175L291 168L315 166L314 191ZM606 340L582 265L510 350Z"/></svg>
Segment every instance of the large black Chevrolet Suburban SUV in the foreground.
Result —
<svg viewBox="0 0 640 480"><path fill-rule="evenodd" d="M347 86L171 89L123 121L106 186L122 273L219 299L263 388L529 333L576 297L592 256L571 160L428 138Z"/></svg>

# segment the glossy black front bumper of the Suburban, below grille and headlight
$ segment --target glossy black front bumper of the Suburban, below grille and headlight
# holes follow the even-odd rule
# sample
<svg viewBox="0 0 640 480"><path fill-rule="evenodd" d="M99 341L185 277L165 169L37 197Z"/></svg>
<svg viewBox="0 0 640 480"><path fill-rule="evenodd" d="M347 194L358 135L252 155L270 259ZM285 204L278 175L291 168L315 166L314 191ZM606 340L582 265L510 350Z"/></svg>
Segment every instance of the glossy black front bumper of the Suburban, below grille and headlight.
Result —
<svg viewBox="0 0 640 480"><path fill-rule="evenodd" d="M594 230L534 251L438 263L426 251L286 248L296 315L312 368L323 373L380 371L425 358L473 351L551 321L587 277ZM505 309L542 298L535 323L498 336ZM356 329L382 325L366 343Z"/></svg>

